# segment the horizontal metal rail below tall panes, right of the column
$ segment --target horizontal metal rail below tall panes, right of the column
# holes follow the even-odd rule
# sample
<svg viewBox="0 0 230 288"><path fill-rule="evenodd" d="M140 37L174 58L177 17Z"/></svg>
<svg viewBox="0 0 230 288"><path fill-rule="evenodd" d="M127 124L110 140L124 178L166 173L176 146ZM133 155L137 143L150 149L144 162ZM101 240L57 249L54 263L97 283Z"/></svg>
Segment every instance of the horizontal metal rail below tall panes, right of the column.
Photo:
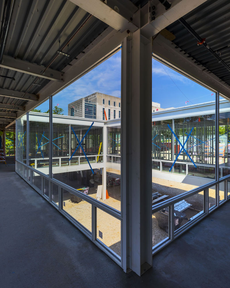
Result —
<svg viewBox="0 0 230 288"><path fill-rule="evenodd" d="M163 209L165 207L168 207L170 205L174 205L175 203L177 203L177 202L179 202L181 200L184 200L184 199L188 198L189 196L193 196L194 194L202 192L202 191L204 191L204 190L206 190L206 189L208 189L208 188L210 188L210 187L212 187L212 186L214 186L216 184L219 184L219 183L221 183L221 182L223 182L223 181L225 181L227 179L230 179L230 175L222 177L218 181L213 181L213 182L211 182L209 184L205 184L205 185L200 186L198 188L192 189L192 190L190 190L188 192L184 192L184 193L182 193L180 195L174 196L174 197L172 197L172 198L170 198L168 200L164 200L164 201L160 202L159 204L155 204L155 205L152 206L152 213L158 212L159 210L161 210L161 209Z"/></svg>

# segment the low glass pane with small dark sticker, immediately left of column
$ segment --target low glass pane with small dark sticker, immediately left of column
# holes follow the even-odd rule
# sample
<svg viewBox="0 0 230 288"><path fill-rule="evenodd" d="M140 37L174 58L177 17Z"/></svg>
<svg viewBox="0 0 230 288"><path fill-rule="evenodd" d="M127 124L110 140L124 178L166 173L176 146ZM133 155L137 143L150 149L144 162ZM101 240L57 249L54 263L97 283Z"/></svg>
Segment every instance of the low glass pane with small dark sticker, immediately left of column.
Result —
<svg viewBox="0 0 230 288"><path fill-rule="evenodd" d="M121 255L120 220L97 208L97 240L103 242L119 257Z"/></svg>

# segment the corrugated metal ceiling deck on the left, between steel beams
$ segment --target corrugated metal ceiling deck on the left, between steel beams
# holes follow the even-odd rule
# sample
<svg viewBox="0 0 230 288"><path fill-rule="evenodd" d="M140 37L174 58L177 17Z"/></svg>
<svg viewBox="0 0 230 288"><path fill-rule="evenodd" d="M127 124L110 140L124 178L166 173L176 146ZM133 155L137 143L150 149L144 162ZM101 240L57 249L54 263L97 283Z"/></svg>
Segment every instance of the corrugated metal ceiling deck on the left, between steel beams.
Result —
<svg viewBox="0 0 230 288"><path fill-rule="evenodd" d="M0 16L3 4L0 7ZM67 0L16 0L4 55L47 67L59 50L59 40L61 49L88 16L89 13ZM107 27L107 24L92 16L70 41L69 47L63 50L70 57L67 59L64 55L58 56L50 68L62 71ZM0 68L0 75L15 78L14 81L0 77L0 88L20 92L26 92L36 79L35 76L5 68ZM41 87L32 86L28 93L39 93L49 81L40 78L37 83ZM0 96L0 103L26 105L27 102Z"/></svg>

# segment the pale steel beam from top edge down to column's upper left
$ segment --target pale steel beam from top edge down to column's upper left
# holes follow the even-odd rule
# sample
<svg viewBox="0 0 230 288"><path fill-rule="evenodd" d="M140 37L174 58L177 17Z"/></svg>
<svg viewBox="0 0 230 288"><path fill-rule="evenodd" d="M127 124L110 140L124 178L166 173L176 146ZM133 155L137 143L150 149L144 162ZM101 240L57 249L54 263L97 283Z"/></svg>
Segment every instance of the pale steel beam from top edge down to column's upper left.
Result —
<svg viewBox="0 0 230 288"><path fill-rule="evenodd" d="M70 0L72 3L89 12L110 27L120 31L134 32L138 27L133 24L133 14L138 10L129 0Z"/></svg>

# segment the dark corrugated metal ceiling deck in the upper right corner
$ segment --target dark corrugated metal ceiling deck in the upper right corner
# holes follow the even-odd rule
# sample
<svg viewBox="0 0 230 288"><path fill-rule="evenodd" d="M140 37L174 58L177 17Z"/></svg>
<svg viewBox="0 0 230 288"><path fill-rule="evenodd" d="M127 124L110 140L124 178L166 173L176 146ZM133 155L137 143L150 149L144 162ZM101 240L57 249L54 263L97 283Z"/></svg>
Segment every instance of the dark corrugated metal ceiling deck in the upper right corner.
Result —
<svg viewBox="0 0 230 288"><path fill-rule="evenodd" d="M229 0L208 0L183 17L193 30L213 49L218 50L230 44L230 2ZM230 72L204 48L197 45L197 40L177 20L167 28L175 35L172 41L198 61L204 69L215 74L226 85L230 86ZM230 48L221 52L221 58L230 65ZM218 53L218 55L220 55Z"/></svg>

